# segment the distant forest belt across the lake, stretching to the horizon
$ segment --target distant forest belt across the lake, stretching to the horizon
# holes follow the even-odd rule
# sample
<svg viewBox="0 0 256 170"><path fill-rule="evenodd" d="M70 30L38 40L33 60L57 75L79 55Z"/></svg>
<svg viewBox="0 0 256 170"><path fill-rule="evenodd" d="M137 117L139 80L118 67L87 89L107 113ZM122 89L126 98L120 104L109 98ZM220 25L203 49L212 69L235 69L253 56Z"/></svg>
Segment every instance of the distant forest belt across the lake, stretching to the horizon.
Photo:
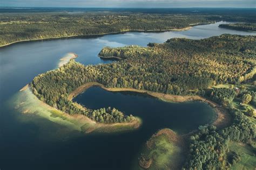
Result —
<svg viewBox="0 0 256 170"><path fill-rule="evenodd" d="M190 24L230 20L255 22L251 12L37 12L0 13L0 46L30 39L86 36L129 30L182 29Z"/></svg>

